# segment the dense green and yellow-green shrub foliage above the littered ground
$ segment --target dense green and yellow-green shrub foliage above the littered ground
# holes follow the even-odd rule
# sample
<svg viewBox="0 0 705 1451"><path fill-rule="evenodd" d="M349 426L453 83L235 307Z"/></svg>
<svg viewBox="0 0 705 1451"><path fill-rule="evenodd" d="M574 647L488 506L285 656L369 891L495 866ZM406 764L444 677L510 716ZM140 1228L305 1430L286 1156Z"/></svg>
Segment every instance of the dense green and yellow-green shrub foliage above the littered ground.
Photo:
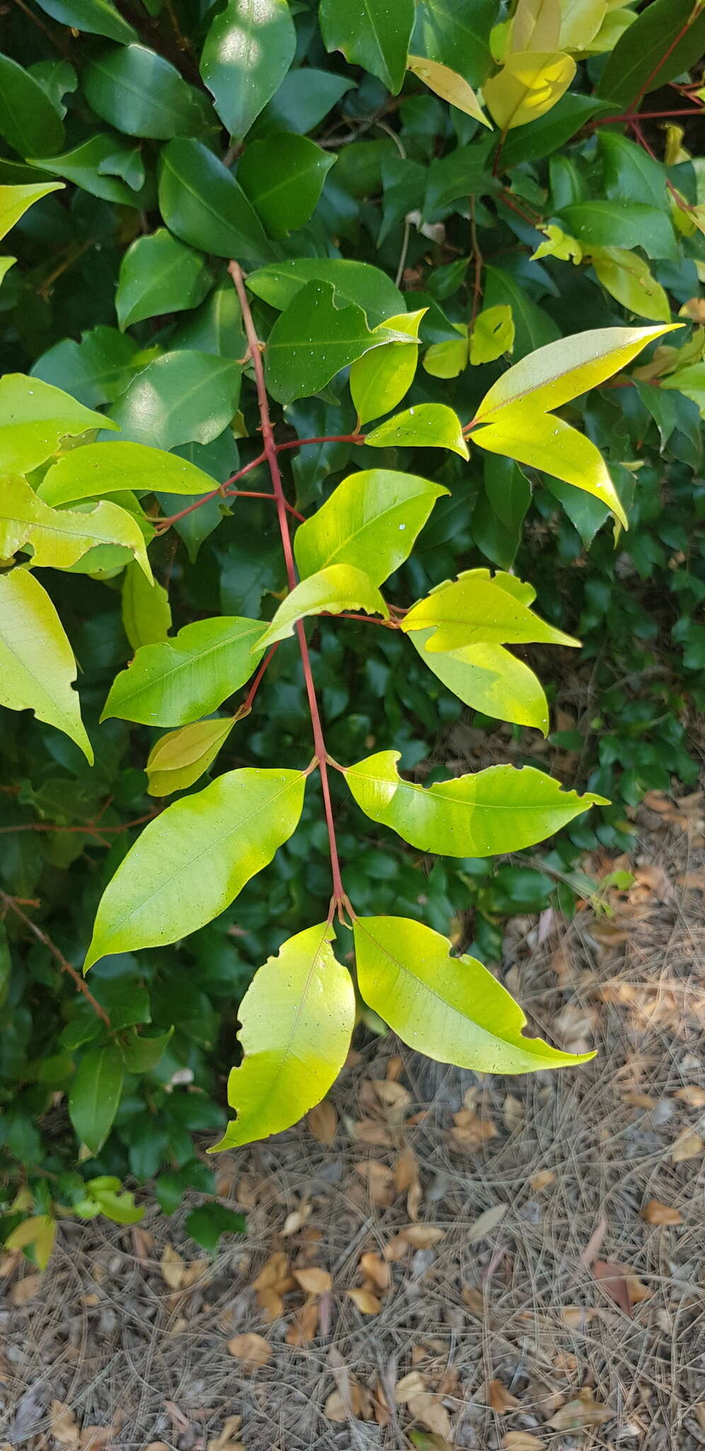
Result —
<svg viewBox="0 0 705 1451"><path fill-rule="evenodd" d="M57 1213L139 1217L126 1175L212 1194L251 979L219 1148L355 1016L576 1062L483 963L693 779L704 42L690 0L12 10L0 1143L39 1264Z"/></svg>

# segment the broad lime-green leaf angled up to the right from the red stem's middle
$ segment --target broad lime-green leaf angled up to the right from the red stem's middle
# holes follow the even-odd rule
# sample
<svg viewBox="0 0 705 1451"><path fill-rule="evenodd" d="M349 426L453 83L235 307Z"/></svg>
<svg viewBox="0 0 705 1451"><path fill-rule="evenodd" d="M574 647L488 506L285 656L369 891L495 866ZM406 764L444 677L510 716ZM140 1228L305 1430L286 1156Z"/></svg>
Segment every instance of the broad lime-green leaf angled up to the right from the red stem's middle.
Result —
<svg viewBox="0 0 705 1451"><path fill-rule="evenodd" d="M409 557L435 501L447 492L413 473L367 469L350 474L296 531L299 573L306 577L329 564L354 564L382 585Z"/></svg>

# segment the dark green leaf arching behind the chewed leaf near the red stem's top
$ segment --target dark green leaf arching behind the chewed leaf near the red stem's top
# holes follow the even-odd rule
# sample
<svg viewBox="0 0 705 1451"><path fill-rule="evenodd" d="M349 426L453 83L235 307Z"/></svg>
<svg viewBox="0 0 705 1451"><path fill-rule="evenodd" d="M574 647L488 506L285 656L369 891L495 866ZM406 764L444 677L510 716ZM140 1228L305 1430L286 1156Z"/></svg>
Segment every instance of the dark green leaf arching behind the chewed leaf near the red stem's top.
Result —
<svg viewBox="0 0 705 1451"><path fill-rule="evenodd" d="M250 273L247 284L255 297L283 312L309 281L325 281L335 287L335 296L354 302L367 316L370 328L405 311L402 293L386 273L368 263L354 263L342 257L294 257L273 263Z"/></svg>

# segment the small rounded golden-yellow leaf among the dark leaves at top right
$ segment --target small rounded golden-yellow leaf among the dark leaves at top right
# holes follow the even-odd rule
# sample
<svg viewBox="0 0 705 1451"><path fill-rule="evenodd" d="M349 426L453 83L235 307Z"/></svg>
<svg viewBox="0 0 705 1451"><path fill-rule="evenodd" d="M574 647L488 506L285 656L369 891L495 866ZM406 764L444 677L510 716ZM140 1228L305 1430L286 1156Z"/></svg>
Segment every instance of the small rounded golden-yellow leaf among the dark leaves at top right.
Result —
<svg viewBox="0 0 705 1451"><path fill-rule="evenodd" d="M485 104L502 131L525 126L556 106L574 74L564 51L515 51L485 83Z"/></svg>

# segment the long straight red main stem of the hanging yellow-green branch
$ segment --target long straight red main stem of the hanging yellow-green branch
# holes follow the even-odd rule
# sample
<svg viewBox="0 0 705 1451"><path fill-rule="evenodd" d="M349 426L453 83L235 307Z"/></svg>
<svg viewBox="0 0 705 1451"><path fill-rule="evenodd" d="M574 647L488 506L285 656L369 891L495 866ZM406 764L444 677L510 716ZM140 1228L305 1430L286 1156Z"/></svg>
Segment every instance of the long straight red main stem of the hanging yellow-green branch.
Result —
<svg viewBox="0 0 705 1451"><path fill-rule="evenodd" d="M281 534L281 548L284 550L286 573L289 579L289 588L296 588L296 564L292 550L292 535L289 534L289 518L284 499L284 489L281 483L281 473L279 469L277 445L274 443L274 432L270 419L270 406L267 400L267 386L264 382L264 367L260 338L257 337L257 329L252 321L252 313L250 311L250 299L245 290L245 281L242 271L236 261L228 264L228 271L235 284L238 293L239 306L242 311L242 322L245 325L245 335L250 347L250 357L252 360L255 383L257 383L257 400L260 405L260 422L263 431L264 454L270 466L270 476L277 499L277 515L279 515L279 530ZM296 624L296 634L299 637L299 650L302 656L303 678L306 681L306 694L309 698L310 724L313 728L313 746L316 752L318 769L321 772L321 789L323 792L323 808L325 820L328 826L328 842L331 847L331 872L334 884L334 900L332 905L342 904L345 901L345 892L342 888L341 866L338 860L338 843L335 840L335 820L332 813L331 801L331 785L328 781L328 752L325 749L323 728L321 724L321 714L316 701L316 688L313 685L313 672L310 669L309 647L306 643L306 633L303 628L303 621L299 620Z"/></svg>

